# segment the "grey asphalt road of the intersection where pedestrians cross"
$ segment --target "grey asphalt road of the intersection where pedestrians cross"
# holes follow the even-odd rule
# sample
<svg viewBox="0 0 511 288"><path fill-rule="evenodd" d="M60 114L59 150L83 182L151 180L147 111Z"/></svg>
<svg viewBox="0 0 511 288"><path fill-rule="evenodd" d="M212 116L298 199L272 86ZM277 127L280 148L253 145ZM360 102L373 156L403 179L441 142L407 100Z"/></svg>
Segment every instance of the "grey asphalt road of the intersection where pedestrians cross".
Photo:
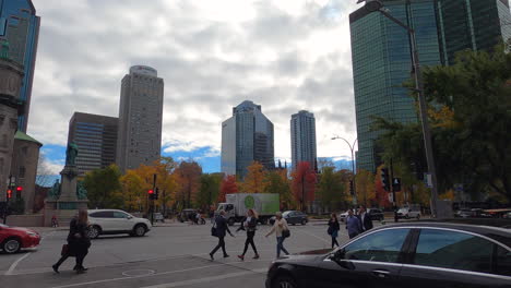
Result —
<svg viewBox="0 0 511 288"><path fill-rule="evenodd" d="M245 232L226 238L228 259L216 253L211 262L207 253L216 245L210 236L211 225L191 226L173 224L154 227L145 237L100 237L93 240L85 259L86 274L76 275L71 268L74 259L54 274L66 242L67 231L43 231L44 239L37 250L15 255L0 254L0 287L264 287L265 273L275 259L275 237L264 238L269 226L259 228L255 244L261 255L252 260L249 248L245 262L237 255L242 252ZM234 230L233 230L234 231ZM292 226L292 237L285 241L290 253L330 248L324 223ZM347 241L341 231L340 243Z"/></svg>

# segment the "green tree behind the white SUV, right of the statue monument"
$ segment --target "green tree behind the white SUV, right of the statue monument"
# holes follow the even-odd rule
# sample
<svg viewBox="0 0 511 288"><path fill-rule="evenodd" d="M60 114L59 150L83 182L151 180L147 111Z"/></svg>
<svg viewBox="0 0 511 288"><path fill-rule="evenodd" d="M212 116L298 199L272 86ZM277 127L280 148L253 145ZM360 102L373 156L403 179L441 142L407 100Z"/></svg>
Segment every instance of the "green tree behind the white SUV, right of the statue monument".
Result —
<svg viewBox="0 0 511 288"><path fill-rule="evenodd" d="M120 177L121 172L116 165L86 173L83 185L87 190L88 206L123 208Z"/></svg>

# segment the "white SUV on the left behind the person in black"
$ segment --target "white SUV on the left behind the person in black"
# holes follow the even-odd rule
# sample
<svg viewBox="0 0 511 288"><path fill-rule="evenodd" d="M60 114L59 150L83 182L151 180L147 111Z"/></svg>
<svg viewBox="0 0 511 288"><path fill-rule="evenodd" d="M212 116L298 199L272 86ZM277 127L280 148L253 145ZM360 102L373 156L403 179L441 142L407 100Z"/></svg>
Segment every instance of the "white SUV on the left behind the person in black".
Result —
<svg viewBox="0 0 511 288"><path fill-rule="evenodd" d="M88 237L92 239L116 233L142 237L152 228L150 220L118 209L90 209L88 223Z"/></svg>

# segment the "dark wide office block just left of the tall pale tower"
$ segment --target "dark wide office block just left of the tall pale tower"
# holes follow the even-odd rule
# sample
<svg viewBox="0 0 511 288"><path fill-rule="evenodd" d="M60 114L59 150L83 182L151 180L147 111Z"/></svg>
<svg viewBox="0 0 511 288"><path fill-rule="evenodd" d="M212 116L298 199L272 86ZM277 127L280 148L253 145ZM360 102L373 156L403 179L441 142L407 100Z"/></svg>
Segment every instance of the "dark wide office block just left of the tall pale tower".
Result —
<svg viewBox="0 0 511 288"><path fill-rule="evenodd" d="M79 147L76 166L80 176L115 164L118 121L116 117L82 112L71 117L68 144L74 142Z"/></svg>

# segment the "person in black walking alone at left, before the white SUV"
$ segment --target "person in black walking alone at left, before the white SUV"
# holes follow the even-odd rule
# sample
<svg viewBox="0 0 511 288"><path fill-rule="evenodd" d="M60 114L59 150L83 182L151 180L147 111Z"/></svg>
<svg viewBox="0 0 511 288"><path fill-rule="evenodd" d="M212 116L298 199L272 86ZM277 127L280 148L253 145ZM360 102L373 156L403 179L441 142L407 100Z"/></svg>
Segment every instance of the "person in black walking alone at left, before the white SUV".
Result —
<svg viewBox="0 0 511 288"><path fill-rule="evenodd" d="M88 254L88 248L91 247L91 239L87 233L88 227L88 214L86 209L79 211L79 216L74 217L69 225L68 235L68 250L60 257L60 260L51 267L55 273L59 273L60 265L69 257L76 257L76 265L73 271L78 274L85 273L87 268L83 266L83 261Z"/></svg>

